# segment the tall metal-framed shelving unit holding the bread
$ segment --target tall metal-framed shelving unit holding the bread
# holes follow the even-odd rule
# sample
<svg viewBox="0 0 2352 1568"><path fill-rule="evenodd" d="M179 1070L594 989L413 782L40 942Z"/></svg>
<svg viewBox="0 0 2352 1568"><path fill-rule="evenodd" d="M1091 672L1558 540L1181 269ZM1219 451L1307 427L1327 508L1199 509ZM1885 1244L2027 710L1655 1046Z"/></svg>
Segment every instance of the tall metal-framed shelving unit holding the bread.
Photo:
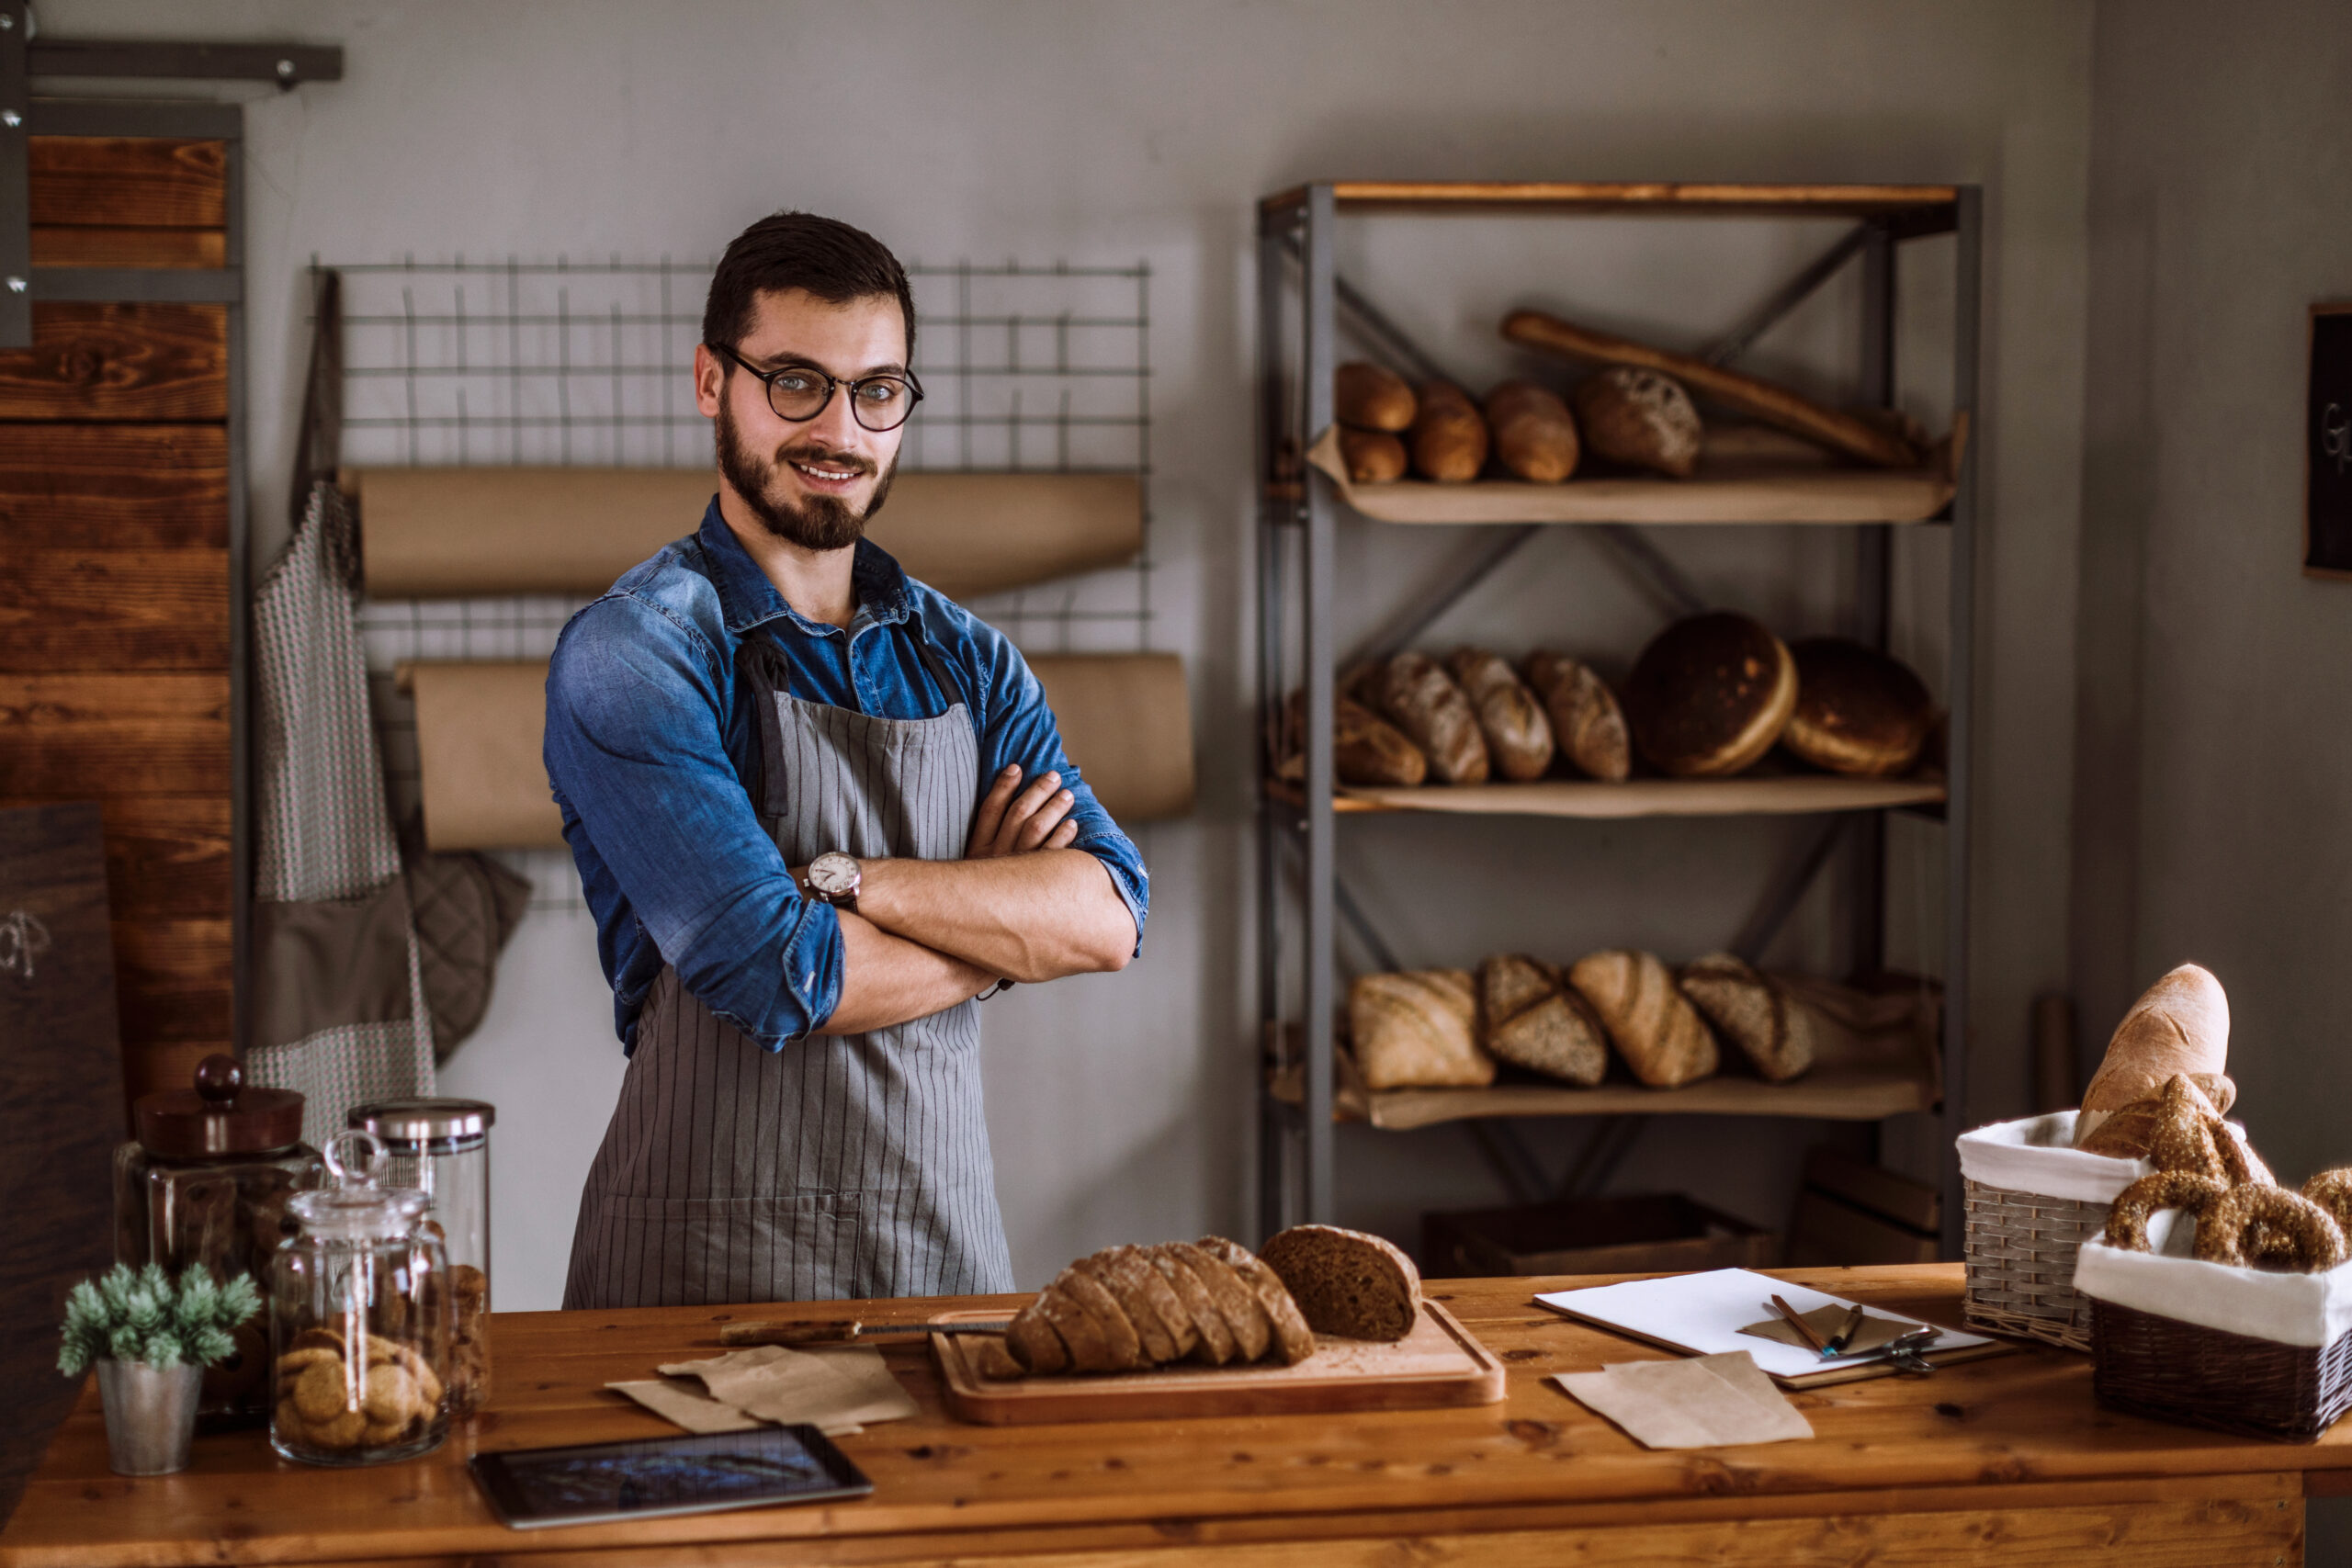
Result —
<svg viewBox="0 0 2352 1568"><path fill-rule="evenodd" d="M1731 362L1766 327L1809 299L1849 263L1860 266L1860 400L1893 407L1896 395L1896 259L1907 242L1950 235L1957 244L1952 310L1952 430L1947 470L1938 475L1872 477L1856 470L1780 475L1766 487L1708 480L1569 480L1559 487L1446 487L1439 508L1411 505L1411 487L1341 487L1312 463L1312 444L1331 428L1331 374L1338 362L1341 315L1381 357L1414 376L1439 376L1430 355L1336 273L1338 223L1348 214L1531 212L1573 216L1762 216L1851 219L1851 228L1811 266L1771 294L1745 322L1712 346L1710 360ZM1969 1070L1969 809L1973 752L1973 595L1978 550L1976 463L1966 433L1978 407L1980 320L1980 190L1976 186L1670 186L1670 183L1385 183L1334 181L1270 195L1258 202L1258 701L1265 715L1258 792L1258 1018L1265 1051L1258 1074L1261 1227L1296 1220L1329 1222L1334 1192L1334 1121L1362 1119L1409 1128L1465 1119L1496 1168L1515 1190L1531 1192L1541 1171L1512 1133L1512 1117L1595 1117L1595 1131L1569 1173L1569 1192L1590 1192L1623 1157L1653 1114L1762 1114L1882 1119L1910 1110L1943 1110L1943 1246L1959 1255L1959 1168L1950 1152L1962 1131ZM1884 480L1884 482L1882 482ZM1938 489L1922 503L1922 484ZM1348 491L1355 491L1350 508ZM1404 508L1399 512L1399 505ZM1858 780L1806 773L1729 780L1637 778L1623 785L1541 780L1475 790L1352 790L1331 771L1331 708L1338 649L1334 637L1336 520L1352 510L1367 520L1388 512L1392 527L1484 527L1491 543L1446 581L1432 583L1352 658L1406 646L1475 585L1545 527L1597 529L1621 564L1642 576L1663 602L1700 609L1698 595L1632 524L1750 522L1755 527L1844 527L1853 536L1856 602L1849 630L1886 646L1891 616L1891 531L1933 527L1950 538L1950 733L1940 778ZM1439 515L1442 512L1442 515ZM1301 658L1291 658L1296 616ZM1275 715L1284 696L1305 689L1305 778L1275 780ZM1818 827L1773 875L1733 950L1755 957L1846 842L1846 896L1867 912L1853 922L1849 971L1884 969L1886 813L1912 811L1943 823L1943 1074L1940 1084L1886 1074L1820 1074L1797 1084L1710 1079L1682 1091L1602 1086L1486 1091L1390 1091L1367 1095L1336 1084L1334 1013L1338 1004L1336 940L1345 922L1383 969L1402 969L1364 919L1341 877L1341 823L1367 811L1442 811L1559 818L1625 816L1816 816ZM1287 863L1301 867L1301 896L1287 893ZM1294 903L1298 905L1294 912ZM1298 919L1298 957L1287 959ZM1301 966L1296 973L1291 966ZM1296 992L1296 1006L1291 1004ZM1851 1079L1851 1081L1846 1081Z"/></svg>

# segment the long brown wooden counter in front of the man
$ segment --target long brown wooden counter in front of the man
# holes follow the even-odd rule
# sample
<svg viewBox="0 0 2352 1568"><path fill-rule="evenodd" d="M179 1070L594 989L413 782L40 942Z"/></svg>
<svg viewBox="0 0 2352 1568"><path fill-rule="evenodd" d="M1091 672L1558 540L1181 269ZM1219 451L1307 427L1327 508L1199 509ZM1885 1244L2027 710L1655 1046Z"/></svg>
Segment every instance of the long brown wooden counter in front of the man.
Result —
<svg viewBox="0 0 2352 1568"><path fill-rule="evenodd" d="M1893 1312L1959 1319L1959 1265L1792 1269ZM1073 1427L950 1420L927 1352L891 1349L915 1420L840 1439L875 1481L842 1507L510 1533L466 1476L470 1450L654 1436L666 1422L604 1392L710 1352L729 1316L840 1316L840 1305L534 1312L496 1319L496 1399L423 1460L308 1469L261 1434L198 1439L193 1469L106 1469L96 1392L59 1432L0 1533L0 1568L96 1563L913 1563L1030 1559L1056 1568L1317 1563L2131 1563L2303 1561L2303 1500L2352 1490L2352 1422L2317 1446L2100 1410L2086 1356L2027 1347L1797 1394L1809 1443L1649 1453L1548 1373L1663 1352L1529 1302L1595 1279L1435 1281L1432 1295L1510 1368L1472 1410L1275 1415ZM1009 1298L1000 1298L1009 1300ZM950 1305L861 1302L866 1321Z"/></svg>

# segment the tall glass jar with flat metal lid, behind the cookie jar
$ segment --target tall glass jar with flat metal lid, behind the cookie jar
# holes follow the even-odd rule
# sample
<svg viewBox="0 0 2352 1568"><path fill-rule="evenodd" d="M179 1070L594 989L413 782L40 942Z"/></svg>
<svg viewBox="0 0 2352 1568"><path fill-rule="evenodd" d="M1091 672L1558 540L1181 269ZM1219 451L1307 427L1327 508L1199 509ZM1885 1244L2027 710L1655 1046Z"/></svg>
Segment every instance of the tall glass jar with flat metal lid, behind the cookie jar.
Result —
<svg viewBox="0 0 2352 1568"><path fill-rule="evenodd" d="M350 1126L390 1154L393 1187L426 1194L426 1220L449 1248L449 1415L489 1403L489 1128L487 1100L374 1100Z"/></svg>

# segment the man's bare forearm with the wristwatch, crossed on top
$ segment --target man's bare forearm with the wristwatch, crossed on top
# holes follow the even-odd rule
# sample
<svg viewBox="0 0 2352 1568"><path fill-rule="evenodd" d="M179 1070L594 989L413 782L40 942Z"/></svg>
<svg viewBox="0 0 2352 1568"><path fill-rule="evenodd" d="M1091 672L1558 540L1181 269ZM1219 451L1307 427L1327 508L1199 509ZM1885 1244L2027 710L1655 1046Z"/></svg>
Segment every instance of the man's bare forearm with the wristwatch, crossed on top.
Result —
<svg viewBox="0 0 2352 1568"><path fill-rule="evenodd" d="M1124 969L1136 919L1101 860L1042 849L995 860L866 860L858 912L1007 980Z"/></svg>

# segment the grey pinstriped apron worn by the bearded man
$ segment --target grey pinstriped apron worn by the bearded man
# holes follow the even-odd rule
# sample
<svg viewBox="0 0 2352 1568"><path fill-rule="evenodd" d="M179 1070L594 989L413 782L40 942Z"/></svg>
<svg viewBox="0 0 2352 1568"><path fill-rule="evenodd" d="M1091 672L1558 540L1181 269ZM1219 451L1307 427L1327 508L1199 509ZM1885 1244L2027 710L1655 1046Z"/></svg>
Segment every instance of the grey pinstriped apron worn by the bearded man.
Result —
<svg viewBox="0 0 2352 1568"><path fill-rule="evenodd" d="M920 623L915 642L955 696ZM936 719L807 703L760 637L741 668L762 731L753 797L786 865L964 856L981 778L962 701ZM564 1307L1011 1291L978 1011L776 1053L663 966L581 1192Z"/></svg>

